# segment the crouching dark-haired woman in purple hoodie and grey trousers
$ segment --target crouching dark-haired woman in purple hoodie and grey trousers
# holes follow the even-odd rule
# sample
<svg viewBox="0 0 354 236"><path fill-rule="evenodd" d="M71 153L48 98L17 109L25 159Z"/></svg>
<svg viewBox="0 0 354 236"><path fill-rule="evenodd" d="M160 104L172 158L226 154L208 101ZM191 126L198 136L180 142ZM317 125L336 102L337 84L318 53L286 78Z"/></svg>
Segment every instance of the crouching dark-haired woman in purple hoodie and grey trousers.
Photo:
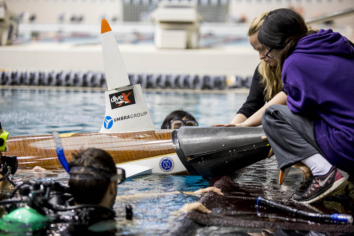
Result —
<svg viewBox="0 0 354 236"><path fill-rule="evenodd" d="M295 11L271 11L258 40L278 59L287 106L262 116L264 132L281 170L303 162L312 179L293 200L320 201L347 184L337 167L354 171L354 48L331 29L308 30Z"/></svg>

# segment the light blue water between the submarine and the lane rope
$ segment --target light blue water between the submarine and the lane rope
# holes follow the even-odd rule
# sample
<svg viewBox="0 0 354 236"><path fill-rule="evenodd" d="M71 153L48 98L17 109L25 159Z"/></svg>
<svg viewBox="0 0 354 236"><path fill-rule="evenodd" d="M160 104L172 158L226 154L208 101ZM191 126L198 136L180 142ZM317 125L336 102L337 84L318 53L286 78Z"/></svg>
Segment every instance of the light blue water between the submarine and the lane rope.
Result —
<svg viewBox="0 0 354 236"><path fill-rule="evenodd" d="M188 111L200 126L229 123L246 100L245 93L144 92L155 128L174 110ZM99 131L105 114L104 92L95 89L0 89L0 121L12 136L52 131Z"/></svg>

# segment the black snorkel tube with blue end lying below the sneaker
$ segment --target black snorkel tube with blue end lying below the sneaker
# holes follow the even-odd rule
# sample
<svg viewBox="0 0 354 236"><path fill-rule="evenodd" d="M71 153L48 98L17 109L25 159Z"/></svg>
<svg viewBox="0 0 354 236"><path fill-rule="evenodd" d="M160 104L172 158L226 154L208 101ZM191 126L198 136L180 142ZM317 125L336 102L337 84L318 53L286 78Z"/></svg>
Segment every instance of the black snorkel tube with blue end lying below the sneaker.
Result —
<svg viewBox="0 0 354 236"><path fill-rule="evenodd" d="M318 220L332 220L338 223L348 223L348 224L352 224L353 223L353 216L349 215L349 214L320 214L320 213L312 213L312 212L306 212L306 211L301 211L299 209L293 208L293 207L289 207L286 205L283 205L281 203L278 202L273 202L270 201L268 199L265 199L263 197L258 197L257 198L257 206L269 206L269 207L273 207L276 209L280 209L295 215L300 215L303 217L309 217L309 218L313 218L313 219L318 219ZM257 212L258 212L258 207L257 207Z"/></svg>

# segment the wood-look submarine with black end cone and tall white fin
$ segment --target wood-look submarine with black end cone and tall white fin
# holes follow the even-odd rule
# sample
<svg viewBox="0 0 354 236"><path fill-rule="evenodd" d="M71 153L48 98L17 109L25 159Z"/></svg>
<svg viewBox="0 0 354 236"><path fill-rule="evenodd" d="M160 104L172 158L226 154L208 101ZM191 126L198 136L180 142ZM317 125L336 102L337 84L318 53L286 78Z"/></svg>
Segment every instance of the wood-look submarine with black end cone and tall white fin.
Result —
<svg viewBox="0 0 354 236"><path fill-rule="evenodd" d="M270 146L261 127L181 127L156 129L141 86L130 86L124 61L108 22L101 24L108 91L99 132L63 133L68 161L72 153L94 147L112 155L127 178L148 173L225 175L268 156ZM62 168L52 135L9 137L6 155L16 155L19 167Z"/></svg>

